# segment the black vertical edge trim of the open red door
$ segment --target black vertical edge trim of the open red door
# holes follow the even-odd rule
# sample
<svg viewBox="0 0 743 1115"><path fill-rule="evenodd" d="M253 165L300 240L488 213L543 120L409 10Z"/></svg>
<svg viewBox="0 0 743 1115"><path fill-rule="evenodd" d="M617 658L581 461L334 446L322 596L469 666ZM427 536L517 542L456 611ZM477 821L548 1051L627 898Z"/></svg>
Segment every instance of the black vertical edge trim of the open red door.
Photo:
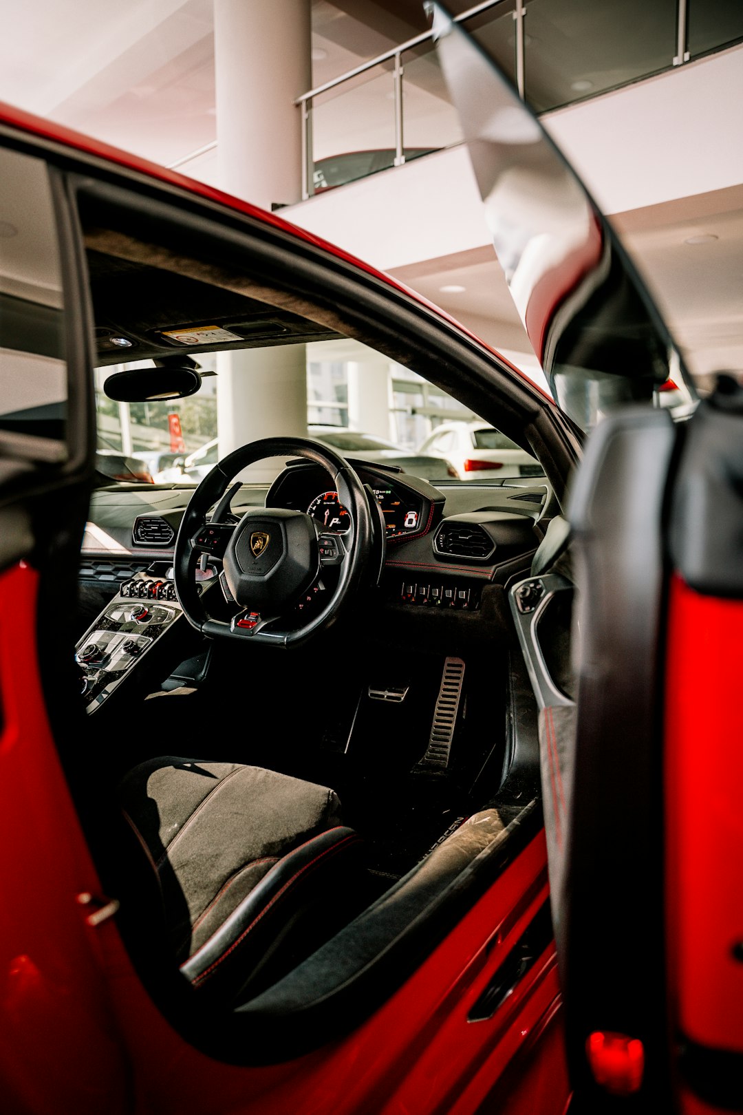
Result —
<svg viewBox="0 0 743 1115"><path fill-rule="evenodd" d="M668 1088L661 699L675 446L665 410L609 415L590 435L570 502L578 712L560 754L574 783L567 826L561 838L548 830L547 852L570 1078L592 1111L605 1096L586 1061L593 1030L645 1046L628 1111L665 1109Z"/></svg>

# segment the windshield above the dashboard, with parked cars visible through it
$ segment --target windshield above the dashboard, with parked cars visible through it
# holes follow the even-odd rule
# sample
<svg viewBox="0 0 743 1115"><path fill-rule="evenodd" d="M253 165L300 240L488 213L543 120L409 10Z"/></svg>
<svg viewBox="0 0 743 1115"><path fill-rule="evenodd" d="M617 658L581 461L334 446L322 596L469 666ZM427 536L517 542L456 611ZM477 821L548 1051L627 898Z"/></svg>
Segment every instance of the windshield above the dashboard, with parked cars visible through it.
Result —
<svg viewBox="0 0 743 1115"><path fill-rule="evenodd" d="M195 395L154 403L109 399L107 377L140 367L153 367L153 361L96 369L101 483L196 485L237 447L236 440L252 439L248 432L255 438L314 438L342 455L399 467L433 484L500 484L542 475L531 454L487 423L472 440L479 415L358 341L198 353L202 387ZM242 439L236 407L246 411ZM499 455L514 449L516 457L512 452ZM246 478L267 482L283 464L255 466Z"/></svg>

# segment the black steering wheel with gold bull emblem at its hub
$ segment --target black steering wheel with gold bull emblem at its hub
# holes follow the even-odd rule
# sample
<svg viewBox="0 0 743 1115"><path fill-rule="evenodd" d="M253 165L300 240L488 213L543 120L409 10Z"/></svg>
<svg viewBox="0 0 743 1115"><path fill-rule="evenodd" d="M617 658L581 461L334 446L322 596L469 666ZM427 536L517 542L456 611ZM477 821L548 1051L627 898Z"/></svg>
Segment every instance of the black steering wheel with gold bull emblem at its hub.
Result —
<svg viewBox="0 0 743 1115"><path fill-rule="evenodd" d="M218 522L229 505L227 487L238 473L264 457L292 456L330 473L351 520L345 534L323 531L311 515L281 507L251 508L236 526ZM218 506L207 523L214 504ZM349 463L325 446L299 437L267 437L235 449L207 473L180 521L173 569L184 615L206 636L277 647L304 642L327 628L359 588L378 533L373 514L379 516L373 495ZM381 544L383 535L382 530ZM219 581L225 598L237 609L229 621L207 613L195 579L201 554L219 553L227 536ZM325 566L339 569L338 584L325 607L296 628L277 629L276 622L315 584Z"/></svg>

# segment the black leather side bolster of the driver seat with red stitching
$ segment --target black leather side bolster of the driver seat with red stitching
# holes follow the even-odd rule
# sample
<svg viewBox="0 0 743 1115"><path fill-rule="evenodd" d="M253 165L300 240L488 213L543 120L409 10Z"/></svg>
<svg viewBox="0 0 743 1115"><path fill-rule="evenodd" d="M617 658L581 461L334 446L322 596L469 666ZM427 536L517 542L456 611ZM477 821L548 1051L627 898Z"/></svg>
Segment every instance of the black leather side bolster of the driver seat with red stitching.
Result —
<svg viewBox="0 0 743 1115"><path fill-rule="evenodd" d="M262 934L255 932L257 927L265 932L277 911L282 922L290 917L282 900L297 901L300 890L315 878L319 870L324 870L331 862L334 864L340 853L356 852L360 845L361 838L353 828L339 825L282 856L217 932L180 966L180 971L194 987L201 987L225 970L224 962L236 949L239 949L239 958L236 959L244 964L253 942L257 947L258 939L262 940Z"/></svg>

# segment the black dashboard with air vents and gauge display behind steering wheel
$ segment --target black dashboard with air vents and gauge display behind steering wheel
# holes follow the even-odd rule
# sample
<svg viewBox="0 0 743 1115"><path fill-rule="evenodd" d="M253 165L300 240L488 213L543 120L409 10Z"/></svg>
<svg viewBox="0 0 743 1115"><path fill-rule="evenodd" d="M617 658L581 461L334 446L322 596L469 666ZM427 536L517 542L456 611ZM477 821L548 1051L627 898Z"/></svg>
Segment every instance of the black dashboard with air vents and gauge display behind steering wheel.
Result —
<svg viewBox="0 0 743 1115"><path fill-rule="evenodd" d="M401 605L405 613L477 612L491 583L505 584L512 573L528 571L544 533L537 523L549 501L545 484L433 487L408 473L352 464L384 521L380 586L382 601L398 609L398 618ZM86 623L137 571L160 580L172 575L175 539L192 493L177 484L117 485L94 493L80 564ZM239 517L264 506L310 514L324 532L348 530L349 515L329 473L304 460L290 464L270 487L243 484L232 513ZM446 634L448 624L432 622Z"/></svg>

